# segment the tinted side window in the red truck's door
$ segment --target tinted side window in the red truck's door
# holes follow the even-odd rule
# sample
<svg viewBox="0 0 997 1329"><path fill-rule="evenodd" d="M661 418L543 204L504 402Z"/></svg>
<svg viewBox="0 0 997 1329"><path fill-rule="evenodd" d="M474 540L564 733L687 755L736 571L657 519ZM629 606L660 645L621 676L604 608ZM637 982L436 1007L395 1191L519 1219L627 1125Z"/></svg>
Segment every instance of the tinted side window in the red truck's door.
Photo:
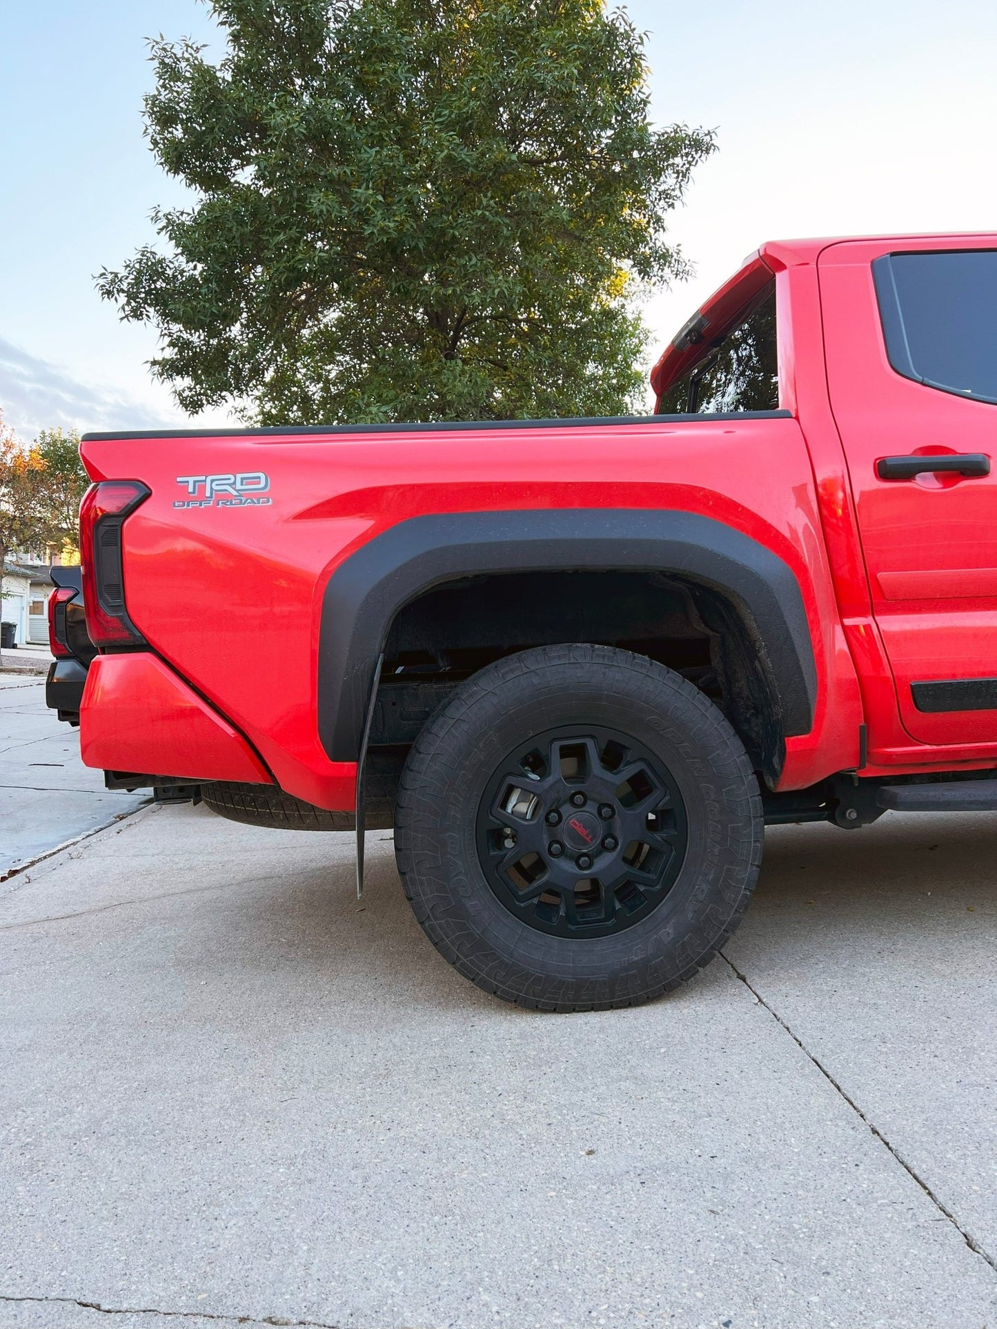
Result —
<svg viewBox="0 0 997 1329"><path fill-rule="evenodd" d="M872 271L897 373L997 403L997 250L887 254Z"/></svg>

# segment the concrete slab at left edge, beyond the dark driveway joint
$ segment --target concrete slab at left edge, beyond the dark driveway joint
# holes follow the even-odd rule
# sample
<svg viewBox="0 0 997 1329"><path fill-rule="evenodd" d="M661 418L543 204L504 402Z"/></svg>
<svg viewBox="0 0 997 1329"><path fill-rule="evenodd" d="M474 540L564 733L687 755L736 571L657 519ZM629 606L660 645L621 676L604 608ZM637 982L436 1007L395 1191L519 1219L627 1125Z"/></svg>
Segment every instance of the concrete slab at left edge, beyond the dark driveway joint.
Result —
<svg viewBox="0 0 997 1329"><path fill-rule="evenodd" d="M148 800L148 792L109 792L102 773L82 764L80 731L48 710L44 680L0 674L0 881Z"/></svg>

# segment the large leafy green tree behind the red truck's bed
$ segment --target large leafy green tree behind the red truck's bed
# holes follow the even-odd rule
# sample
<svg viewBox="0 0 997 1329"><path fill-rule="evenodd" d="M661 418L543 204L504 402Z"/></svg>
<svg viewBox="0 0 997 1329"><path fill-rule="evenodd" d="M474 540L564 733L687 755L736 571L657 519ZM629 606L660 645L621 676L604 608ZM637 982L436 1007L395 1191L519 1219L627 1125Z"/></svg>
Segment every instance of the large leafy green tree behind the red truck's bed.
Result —
<svg viewBox="0 0 997 1329"><path fill-rule="evenodd" d="M152 149L194 191L98 276L153 373L261 424L613 415L633 299L713 134L649 121L602 0L214 0L227 51L153 43Z"/></svg>

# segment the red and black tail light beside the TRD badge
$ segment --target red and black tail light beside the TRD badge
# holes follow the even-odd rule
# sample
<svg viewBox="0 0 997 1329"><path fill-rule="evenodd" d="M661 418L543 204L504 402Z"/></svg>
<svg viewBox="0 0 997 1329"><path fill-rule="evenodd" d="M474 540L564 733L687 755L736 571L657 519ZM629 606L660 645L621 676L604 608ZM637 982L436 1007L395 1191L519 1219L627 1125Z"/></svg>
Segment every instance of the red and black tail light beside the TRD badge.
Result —
<svg viewBox="0 0 997 1329"><path fill-rule="evenodd" d="M102 480L80 504L80 565L86 629L94 646L136 646L144 638L125 609L121 528L152 490L140 480Z"/></svg>

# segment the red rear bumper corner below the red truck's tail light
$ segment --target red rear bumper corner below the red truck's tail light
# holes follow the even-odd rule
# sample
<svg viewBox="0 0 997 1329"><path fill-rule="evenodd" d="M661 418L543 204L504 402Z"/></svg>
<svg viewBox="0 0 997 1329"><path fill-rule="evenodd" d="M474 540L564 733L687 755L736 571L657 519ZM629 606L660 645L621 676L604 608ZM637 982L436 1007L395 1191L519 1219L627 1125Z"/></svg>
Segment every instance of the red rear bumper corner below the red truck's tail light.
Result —
<svg viewBox="0 0 997 1329"><path fill-rule="evenodd" d="M80 754L85 766L101 771L165 781L273 784L238 730L150 651L98 655L90 663L80 703Z"/></svg>

